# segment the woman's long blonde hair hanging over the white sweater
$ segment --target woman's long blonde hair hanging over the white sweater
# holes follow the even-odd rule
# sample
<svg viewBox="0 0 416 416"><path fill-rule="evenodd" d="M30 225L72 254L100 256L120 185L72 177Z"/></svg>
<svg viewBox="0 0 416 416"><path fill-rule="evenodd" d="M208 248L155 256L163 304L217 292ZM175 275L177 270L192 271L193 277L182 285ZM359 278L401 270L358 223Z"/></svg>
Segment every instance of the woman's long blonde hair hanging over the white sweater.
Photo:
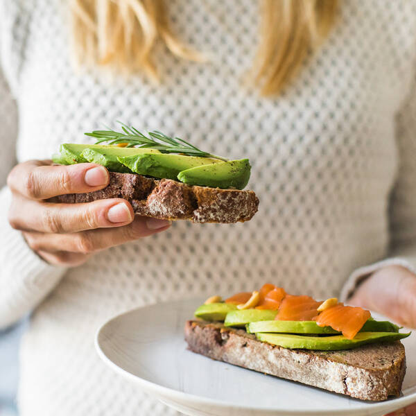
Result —
<svg viewBox="0 0 416 416"><path fill-rule="evenodd" d="M158 40L177 57L203 61L171 31L164 0L69 0L78 64L144 71L158 80L152 60ZM336 0L262 0L261 41L251 71L264 96L278 94L329 33Z"/></svg>

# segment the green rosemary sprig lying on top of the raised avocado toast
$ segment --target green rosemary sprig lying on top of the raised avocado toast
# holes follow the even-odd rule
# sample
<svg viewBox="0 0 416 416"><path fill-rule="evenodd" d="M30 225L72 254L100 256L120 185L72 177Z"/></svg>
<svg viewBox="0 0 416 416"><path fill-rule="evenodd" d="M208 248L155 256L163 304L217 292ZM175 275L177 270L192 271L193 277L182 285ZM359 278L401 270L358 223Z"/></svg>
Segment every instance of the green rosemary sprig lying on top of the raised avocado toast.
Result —
<svg viewBox="0 0 416 416"><path fill-rule="evenodd" d="M184 139L179 137L166 136L164 133L154 130L148 132L148 137L139 132L136 128L121 123L122 132L116 132L115 130L94 130L90 133L84 133L87 136L95 137L97 139L96 144L107 142L108 144L120 144L127 143L126 147L139 147L160 150L161 153L180 153L187 156L199 156L199 157L214 157L227 161L225 157L212 155L211 153L204 152L198 149Z"/></svg>

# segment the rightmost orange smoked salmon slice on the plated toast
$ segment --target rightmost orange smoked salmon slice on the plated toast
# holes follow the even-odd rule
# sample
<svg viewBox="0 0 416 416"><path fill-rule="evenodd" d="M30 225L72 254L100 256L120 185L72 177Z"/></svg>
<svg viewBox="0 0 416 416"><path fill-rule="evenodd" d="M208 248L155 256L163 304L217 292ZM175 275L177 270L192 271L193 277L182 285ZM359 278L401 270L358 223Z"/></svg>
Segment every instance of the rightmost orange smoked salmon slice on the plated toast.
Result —
<svg viewBox="0 0 416 416"><path fill-rule="evenodd" d="M338 304L320 313L315 320L320 327L331 327L352 340L370 317L369 311L358 306Z"/></svg>

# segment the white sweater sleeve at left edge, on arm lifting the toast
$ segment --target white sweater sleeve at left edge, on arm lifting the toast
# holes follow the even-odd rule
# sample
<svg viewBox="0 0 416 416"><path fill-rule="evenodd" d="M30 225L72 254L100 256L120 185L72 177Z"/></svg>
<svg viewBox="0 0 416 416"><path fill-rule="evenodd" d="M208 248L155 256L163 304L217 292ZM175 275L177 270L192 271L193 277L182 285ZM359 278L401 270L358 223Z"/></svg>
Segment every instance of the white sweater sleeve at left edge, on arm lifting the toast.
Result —
<svg viewBox="0 0 416 416"><path fill-rule="evenodd" d="M1 38L0 38L1 40ZM17 109L0 67L0 329L16 322L58 284L64 268L50 266L8 224L8 172L16 164ZM1 188L2 187L2 188Z"/></svg>

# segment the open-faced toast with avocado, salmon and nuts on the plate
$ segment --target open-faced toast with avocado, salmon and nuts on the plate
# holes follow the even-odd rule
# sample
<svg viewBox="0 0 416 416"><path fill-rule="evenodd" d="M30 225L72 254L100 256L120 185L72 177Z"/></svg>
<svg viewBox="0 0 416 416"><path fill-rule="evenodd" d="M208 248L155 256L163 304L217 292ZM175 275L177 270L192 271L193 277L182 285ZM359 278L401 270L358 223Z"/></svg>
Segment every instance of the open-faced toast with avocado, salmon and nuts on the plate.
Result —
<svg viewBox="0 0 416 416"><path fill-rule="evenodd" d="M210 297L195 315L185 340L198 354L357 399L400 395L406 357L399 340L410 333L365 309L265 284L225 302Z"/></svg>

